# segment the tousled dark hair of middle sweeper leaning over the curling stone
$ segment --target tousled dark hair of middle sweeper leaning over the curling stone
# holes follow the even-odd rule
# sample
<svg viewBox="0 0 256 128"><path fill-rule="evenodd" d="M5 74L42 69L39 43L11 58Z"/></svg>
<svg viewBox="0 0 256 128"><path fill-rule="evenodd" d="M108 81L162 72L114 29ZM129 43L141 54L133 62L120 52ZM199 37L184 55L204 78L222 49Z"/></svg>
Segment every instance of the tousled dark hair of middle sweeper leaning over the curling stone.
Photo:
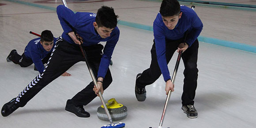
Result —
<svg viewBox="0 0 256 128"><path fill-rule="evenodd" d="M102 6L97 11L96 23L98 27L115 28L117 26L118 15L115 14L112 7Z"/></svg>

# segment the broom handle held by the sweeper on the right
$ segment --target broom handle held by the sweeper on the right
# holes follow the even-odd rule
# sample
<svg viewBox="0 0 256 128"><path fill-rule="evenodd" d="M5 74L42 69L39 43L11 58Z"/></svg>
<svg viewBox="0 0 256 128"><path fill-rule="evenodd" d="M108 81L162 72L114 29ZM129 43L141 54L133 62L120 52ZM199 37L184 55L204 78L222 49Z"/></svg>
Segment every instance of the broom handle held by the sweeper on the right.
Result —
<svg viewBox="0 0 256 128"><path fill-rule="evenodd" d="M194 10L195 6L192 5L191 8ZM184 43L186 41L187 34L188 34L188 30L184 34ZM183 51L179 52L179 55L178 55L178 58L177 58L177 61L176 61L176 65L175 65L175 68L174 68L174 71L173 71L173 77L172 77L172 80L171 80L173 84L174 84L174 81L175 81L175 78L176 78L176 75L177 75L177 72L178 72L178 68L179 68L179 64L180 64L180 61L181 61L182 52ZM162 117L161 117L161 120L160 120L158 128L162 128L163 120L164 120L165 113L166 113L167 104L168 104L168 101L169 101L169 98L170 98L171 94L172 94L172 90L169 90L168 95L166 97L166 103L165 103L165 106L164 106L164 110L163 110Z"/></svg>

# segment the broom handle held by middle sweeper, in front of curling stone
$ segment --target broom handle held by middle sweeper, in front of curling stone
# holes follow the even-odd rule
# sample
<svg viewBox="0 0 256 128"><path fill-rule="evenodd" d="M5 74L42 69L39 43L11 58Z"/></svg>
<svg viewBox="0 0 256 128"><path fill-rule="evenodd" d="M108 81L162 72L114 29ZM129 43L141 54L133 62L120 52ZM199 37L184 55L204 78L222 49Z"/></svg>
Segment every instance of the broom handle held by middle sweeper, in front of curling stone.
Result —
<svg viewBox="0 0 256 128"><path fill-rule="evenodd" d="M65 6L66 8L68 8L68 5L67 5L67 3L66 3L66 0L62 0L62 3L64 4L64 6ZM75 31L74 31L74 32L75 32ZM80 40L79 40L79 41L80 41ZM93 74L93 72L92 72L92 69L90 68L90 64L88 63L87 55L86 55L86 53L85 53L85 50L84 50L83 47L82 47L82 42L81 42L81 45L79 45L79 48L80 48L80 50L81 50L81 52L82 52L82 54L83 54L83 57L85 58L85 62L86 62L86 64L87 64L87 68L89 69L90 76L91 76L91 78L92 78L92 80L93 80L93 83L94 83L94 85L98 88L97 80L96 80L96 78L95 78L95 76L94 76L94 74ZM109 110L108 110L108 108L107 108L107 106L106 106L105 100L104 100L104 98L103 98L103 96L102 96L101 90L99 91L99 97L100 97L100 99L101 99L101 101L102 101L102 105L104 106L105 113L106 113L106 114L108 115L108 117L109 117L109 122L110 122L111 124L114 124L114 123L113 123L113 120L112 120L112 118L111 118L111 116L110 116L110 114L109 114Z"/></svg>

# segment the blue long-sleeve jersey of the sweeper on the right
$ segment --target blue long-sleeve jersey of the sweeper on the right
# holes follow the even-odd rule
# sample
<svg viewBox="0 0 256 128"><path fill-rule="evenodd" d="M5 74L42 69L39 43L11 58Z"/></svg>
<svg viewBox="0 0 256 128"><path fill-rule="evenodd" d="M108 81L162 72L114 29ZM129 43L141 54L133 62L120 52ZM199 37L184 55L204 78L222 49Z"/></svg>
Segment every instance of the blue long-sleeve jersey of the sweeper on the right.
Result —
<svg viewBox="0 0 256 128"><path fill-rule="evenodd" d="M163 23L162 15L158 13L154 20L154 41L157 53L158 65L163 74L164 80L171 79L166 62L166 39L177 40L184 37L184 33L188 30L185 42L190 47L198 38L203 29L203 23L191 8L181 5L181 19L173 30L169 30Z"/></svg>

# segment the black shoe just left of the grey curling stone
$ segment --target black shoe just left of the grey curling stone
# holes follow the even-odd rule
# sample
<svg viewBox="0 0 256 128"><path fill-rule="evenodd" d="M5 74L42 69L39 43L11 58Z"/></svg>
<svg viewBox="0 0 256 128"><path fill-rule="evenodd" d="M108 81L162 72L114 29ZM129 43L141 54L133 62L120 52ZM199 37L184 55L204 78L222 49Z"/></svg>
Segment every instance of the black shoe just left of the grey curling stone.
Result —
<svg viewBox="0 0 256 128"><path fill-rule="evenodd" d="M70 102L70 99L67 101L65 110L74 113L77 117L90 117L90 113L85 111L83 106L75 106Z"/></svg>

